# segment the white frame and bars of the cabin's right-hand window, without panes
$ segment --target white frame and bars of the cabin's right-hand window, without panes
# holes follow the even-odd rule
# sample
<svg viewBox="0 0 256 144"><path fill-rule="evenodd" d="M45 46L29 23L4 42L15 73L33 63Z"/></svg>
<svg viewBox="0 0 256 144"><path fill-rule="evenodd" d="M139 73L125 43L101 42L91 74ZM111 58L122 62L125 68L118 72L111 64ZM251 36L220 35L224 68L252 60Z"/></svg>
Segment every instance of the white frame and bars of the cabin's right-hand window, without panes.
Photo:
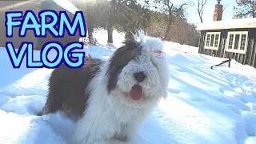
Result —
<svg viewBox="0 0 256 144"><path fill-rule="evenodd" d="M232 43L232 49L228 49L229 42L230 42L230 34L234 34L234 40L233 40L233 43ZM235 35L236 34L240 34L239 42L238 42L238 50L234 50L234 42L235 42ZM245 42L245 49L244 50L240 50L242 34L246 34L246 42ZM247 50L247 46L248 46L247 42L248 42L248 31L229 31L227 33L226 48L225 48L225 50L227 52L232 52L232 53L246 54L246 50Z"/></svg>

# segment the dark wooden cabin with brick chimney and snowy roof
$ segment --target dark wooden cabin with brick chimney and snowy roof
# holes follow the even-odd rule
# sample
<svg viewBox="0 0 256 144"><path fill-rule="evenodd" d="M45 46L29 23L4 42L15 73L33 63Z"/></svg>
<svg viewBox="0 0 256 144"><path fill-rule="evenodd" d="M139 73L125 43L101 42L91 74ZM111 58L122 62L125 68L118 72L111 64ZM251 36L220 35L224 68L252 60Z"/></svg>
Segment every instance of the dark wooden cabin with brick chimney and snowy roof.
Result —
<svg viewBox="0 0 256 144"><path fill-rule="evenodd" d="M222 20L223 6L214 9L214 22L197 26L199 54L232 58L256 68L256 18Z"/></svg>

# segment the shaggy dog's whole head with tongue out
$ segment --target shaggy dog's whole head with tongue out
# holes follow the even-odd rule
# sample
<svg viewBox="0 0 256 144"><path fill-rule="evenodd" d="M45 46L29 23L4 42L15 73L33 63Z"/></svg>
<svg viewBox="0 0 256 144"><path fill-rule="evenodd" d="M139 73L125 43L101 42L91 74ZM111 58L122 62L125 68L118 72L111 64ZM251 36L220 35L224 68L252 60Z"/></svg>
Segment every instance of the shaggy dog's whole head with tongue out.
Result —
<svg viewBox="0 0 256 144"><path fill-rule="evenodd" d="M127 106L145 107L166 97L169 82L162 41L140 35L139 41L126 41L110 58L106 71L107 91Z"/></svg>

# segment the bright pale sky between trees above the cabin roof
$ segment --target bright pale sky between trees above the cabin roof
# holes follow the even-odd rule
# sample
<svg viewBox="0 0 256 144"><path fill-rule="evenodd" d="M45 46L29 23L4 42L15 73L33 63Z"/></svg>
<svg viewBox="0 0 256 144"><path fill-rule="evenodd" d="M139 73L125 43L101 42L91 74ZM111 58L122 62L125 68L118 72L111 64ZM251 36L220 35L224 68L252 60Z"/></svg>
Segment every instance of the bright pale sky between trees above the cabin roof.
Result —
<svg viewBox="0 0 256 144"><path fill-rule="evenodd" d="M138 0L138 2L142 2L144 0ZM200 0L202 1L202 0ZM186 18L188 19L188 22L199 24L200 18L198 17L197 10L195 8L198 0L170 0L170 2L173 2L174 5L179 6L182 4L182 2L194 2L194 6L187 6L186 7ZM217 4L216 0L207 0L206 7L203 13L203 22L212 22L214 17L214 5ZM223 5L223 8L225 8L222 19L231 19L233 18L234 14L234 6L236 6L235 0L222 0L221 4Z"/></svg>

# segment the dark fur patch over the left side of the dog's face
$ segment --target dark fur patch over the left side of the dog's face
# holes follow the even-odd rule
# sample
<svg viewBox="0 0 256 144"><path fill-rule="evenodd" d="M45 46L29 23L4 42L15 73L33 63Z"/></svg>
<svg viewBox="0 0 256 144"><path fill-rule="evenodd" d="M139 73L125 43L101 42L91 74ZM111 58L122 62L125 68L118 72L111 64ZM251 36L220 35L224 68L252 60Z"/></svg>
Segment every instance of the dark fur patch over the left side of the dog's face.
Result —
<svg viewBox="0 0 256 144"><path fill-rule="evenodd" d="M130 62L141 55L141 47L136 41L128 40L124 42L124 46L116 50L113 56L110 58L110 64L108 70L106 70L106 75L108 76L107 91L114 90L118 82L118 74L121 73L122 69Z"/></svg>

